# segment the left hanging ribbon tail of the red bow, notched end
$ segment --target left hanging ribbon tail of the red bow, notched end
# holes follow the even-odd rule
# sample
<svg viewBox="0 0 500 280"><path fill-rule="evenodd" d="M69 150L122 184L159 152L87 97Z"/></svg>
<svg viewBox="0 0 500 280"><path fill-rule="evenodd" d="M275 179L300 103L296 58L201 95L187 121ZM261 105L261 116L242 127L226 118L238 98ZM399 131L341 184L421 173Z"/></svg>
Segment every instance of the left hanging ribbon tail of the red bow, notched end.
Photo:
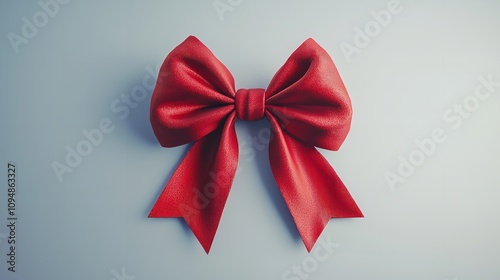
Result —
<svg viewBox="0 0 500 280"><path fill-rule="evenodd" d="M238 165L235 113L193 144L160 194L150 218L182 217L210 251Z"/></svg>

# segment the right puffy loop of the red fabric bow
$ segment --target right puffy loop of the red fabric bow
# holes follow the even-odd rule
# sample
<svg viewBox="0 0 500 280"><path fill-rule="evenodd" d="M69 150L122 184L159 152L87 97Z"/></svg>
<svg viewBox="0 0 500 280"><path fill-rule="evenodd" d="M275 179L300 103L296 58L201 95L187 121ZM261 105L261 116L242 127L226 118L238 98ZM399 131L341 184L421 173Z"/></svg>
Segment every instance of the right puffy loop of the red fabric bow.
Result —
<svg viewBox="0 0 500 280"><path fill-rule="evenodd" d="M306 40L278 70L266 90L267 111L306 143L338 150L351 125L347 90L328 53Z"/></svg>

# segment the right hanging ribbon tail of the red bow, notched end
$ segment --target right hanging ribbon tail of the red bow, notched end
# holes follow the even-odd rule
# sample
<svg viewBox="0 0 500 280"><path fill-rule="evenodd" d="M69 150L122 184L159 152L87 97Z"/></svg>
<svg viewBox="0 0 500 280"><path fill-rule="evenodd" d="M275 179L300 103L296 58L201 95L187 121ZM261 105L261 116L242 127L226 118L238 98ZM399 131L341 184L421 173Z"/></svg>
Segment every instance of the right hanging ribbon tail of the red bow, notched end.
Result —
<svg viewBox="0 0 500 280"><path fill-rule="evenodd" d="M321 153L283 131L273 116L268 118L274 132L269 143L271 169L310 252L330 218L363 217L363 214Z"/></svg>

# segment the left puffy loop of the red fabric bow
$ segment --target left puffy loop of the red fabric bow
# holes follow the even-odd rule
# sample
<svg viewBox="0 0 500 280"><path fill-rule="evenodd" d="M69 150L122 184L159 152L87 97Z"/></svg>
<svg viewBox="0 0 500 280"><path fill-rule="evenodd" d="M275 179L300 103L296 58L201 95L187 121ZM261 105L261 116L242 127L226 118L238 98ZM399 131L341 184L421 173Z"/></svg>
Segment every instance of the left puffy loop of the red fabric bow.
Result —
<svg viewBox="0 0 500 280"><path fill-rule="evenodd" d="M196 37L167 56L151 98L151 124L160 144L174 147L199 140L233 111L234 79Z"/></svg>

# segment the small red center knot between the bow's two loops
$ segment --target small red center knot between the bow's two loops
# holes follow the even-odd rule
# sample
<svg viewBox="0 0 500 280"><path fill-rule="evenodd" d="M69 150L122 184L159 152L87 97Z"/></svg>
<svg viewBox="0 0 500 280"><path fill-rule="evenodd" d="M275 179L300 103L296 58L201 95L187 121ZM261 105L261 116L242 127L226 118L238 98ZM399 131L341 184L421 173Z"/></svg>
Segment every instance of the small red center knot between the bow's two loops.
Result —
<svg viewBox="0 0 500 280"><path fill-rule="evenodd" d="M264 117L265 90L263 88L239 89L234 107L236 116L244 121L256 121Z"/></svg>

